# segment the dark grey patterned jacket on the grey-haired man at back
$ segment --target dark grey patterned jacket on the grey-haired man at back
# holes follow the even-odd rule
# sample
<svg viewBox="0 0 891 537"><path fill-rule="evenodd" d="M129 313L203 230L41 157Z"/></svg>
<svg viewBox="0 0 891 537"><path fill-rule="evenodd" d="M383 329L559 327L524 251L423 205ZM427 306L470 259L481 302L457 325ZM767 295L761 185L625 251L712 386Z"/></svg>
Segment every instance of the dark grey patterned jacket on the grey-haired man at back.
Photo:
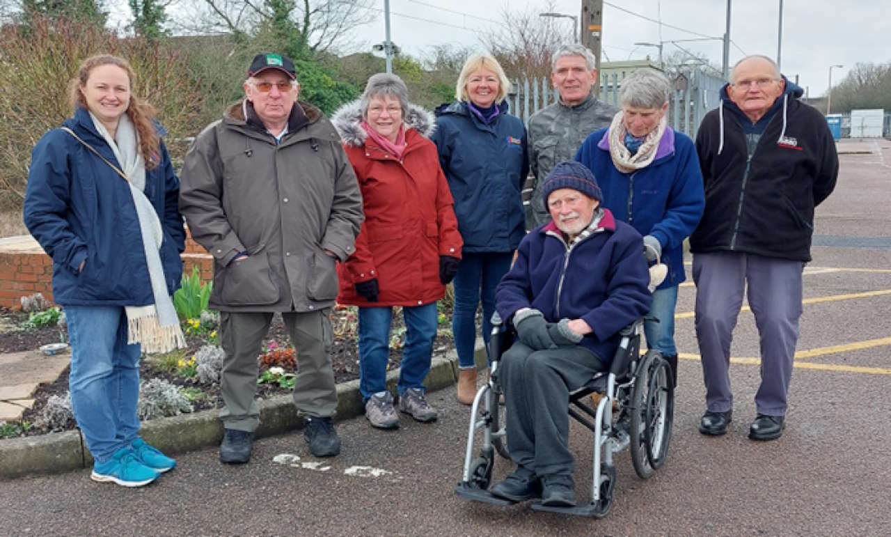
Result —
<svg viewBox="0 0 891 537"><path fill-rule="evenodd" d="M576 106L558 101L529 118L527 145L533 193L526 211L527 230L551 220L542 200L544 178L558 162L574 160L584 139L598 128L609 127L616 112L615 106L588 95Z"/></svg>

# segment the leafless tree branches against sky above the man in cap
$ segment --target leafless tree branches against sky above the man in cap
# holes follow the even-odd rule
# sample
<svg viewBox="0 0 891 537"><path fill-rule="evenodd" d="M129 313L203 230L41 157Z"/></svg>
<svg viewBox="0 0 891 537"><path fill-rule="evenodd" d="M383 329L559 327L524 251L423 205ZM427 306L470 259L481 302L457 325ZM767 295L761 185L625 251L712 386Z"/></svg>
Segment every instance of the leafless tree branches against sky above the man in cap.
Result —
<svg viewBox="0 0 891 537"><path fill-rule="evenodd" d="M353 29L375 19L374 0L184 0L177 23L190 33L255 36L288 33L308 51L335 52L355 43Z"/></svg>

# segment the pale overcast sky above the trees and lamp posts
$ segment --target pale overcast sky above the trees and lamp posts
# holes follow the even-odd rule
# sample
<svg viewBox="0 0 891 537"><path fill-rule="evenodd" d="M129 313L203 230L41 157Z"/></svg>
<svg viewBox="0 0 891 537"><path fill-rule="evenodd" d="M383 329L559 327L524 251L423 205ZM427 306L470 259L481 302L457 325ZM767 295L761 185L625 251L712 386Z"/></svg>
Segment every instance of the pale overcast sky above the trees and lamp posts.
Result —
<svg viewBox="0 0 891 537"><path fill-rule="evenodd" d="M110 0L112 24L129 17L124 0ZM369 50L384 39L384 0L378 0L380 11L370 24L355 30L359 48ZM479 36L491 31L502 21L503 0L390 0L390 28L393 42L415 56L429 53L430 45L453 43L480 47ZM544 11L545 0L511 2L511 9ZM765 54L776 59L779 0L735 0L732 2L730 62L745 54ZM635 42L691 39L702 36L722 37L726 25L726 0L607 0L603 8L603 37L606 60L642 59L650 54L655 61L658 50L651 46L635 46ZM624 12L636 12L657 22ZM176 9L176 8L175 8ZM891 62L891 22L887 11L891 0L854 2L838 0L784 0L781 70L809 89L810 96L823 95L828 86L830 65L843 64L832 70L838 83L856 62ZM556 12L578 15L580 0L556 0ZM558 21L566 29L572 21ZM680 29L670 28L671 25ZM683 31L681 29L689 30ZM693 32L693 33L691 33ZM720 40L682 42L688 50L706 54L720 66ZM678 51L672 43L664 44L664 54ZM355 51L348 51L355 52Z"/></svg>

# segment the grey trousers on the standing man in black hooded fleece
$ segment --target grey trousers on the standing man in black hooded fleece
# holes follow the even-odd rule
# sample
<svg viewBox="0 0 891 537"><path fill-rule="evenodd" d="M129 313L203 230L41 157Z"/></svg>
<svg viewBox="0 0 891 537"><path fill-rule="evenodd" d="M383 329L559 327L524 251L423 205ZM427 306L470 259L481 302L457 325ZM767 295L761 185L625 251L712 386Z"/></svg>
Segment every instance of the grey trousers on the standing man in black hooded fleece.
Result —
<svg viewBox="0 0 891 537"><path fill-rule="evenodd" d="M713 412L733 407L730 345L748 282L748 305L755 314L761 347L758 414L784 416L792 360L802 313L802 261L739 252L696 253L696 338L702 356L706 406Z"/></svg>

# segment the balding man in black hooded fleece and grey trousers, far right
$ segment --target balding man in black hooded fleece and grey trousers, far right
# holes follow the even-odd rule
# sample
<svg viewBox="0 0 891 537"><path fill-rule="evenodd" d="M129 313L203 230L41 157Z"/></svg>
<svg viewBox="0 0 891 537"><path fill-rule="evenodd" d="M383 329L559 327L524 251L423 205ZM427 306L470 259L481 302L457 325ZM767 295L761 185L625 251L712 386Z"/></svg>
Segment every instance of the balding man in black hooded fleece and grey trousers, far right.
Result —
<svg viewBox="0 0 891 537"><path fill-rule="evenodd" d="M702 434L726 433L732 418L730 346L747 282L761 343L748 437L779 438L785 426L813 210L838 177L830 129L820 112L798 101L802 93L770 58L748 56L733 67L720 107L699 128L706 209L690 244L706 384Z"/></svg>

